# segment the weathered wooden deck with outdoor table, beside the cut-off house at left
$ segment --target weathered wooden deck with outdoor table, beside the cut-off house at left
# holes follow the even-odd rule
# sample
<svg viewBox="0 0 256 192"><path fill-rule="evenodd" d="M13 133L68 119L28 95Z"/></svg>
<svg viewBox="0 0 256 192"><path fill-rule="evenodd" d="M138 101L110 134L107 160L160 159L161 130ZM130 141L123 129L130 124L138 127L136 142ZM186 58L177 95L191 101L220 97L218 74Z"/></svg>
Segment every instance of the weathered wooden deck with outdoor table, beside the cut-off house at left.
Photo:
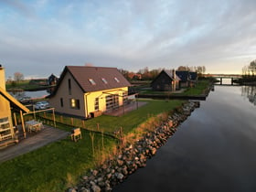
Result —
<svg viewBox="0 0 256 192"><path fill-rule="evenodd" d="M19 143L1 149L0 163L15 158L18 155L27 154L41 146L65 138L69 134L69 132L44 125L40 132L28 135L26 139L21 140Z"/></svg>

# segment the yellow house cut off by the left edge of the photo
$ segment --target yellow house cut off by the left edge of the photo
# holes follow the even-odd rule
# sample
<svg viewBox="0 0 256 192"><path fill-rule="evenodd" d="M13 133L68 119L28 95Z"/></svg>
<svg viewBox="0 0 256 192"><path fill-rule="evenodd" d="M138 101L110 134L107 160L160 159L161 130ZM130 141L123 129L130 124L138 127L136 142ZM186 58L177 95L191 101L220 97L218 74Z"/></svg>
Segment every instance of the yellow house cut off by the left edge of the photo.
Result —
<svg viewBox="0 0 256 192"><path fill-rule="evenodd" d="M22 116L23 112L29 112L27 107L16 101L7 91L5 91L5 69L0 65L0 146L15 142L16 134L12 121L11 107L18 109ZM22 118L24 128L24 122Z"/></svg>

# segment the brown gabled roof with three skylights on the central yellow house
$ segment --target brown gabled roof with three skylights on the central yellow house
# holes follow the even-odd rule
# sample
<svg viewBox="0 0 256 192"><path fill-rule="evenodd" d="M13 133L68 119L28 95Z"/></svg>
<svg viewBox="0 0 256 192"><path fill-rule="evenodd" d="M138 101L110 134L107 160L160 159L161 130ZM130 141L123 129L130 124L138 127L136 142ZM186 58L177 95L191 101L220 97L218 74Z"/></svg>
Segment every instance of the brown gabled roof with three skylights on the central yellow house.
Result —
<svg viewBox="0 0 256 192"><path fill-rule="evenodd" d="M68 71L83 92L104 91L131 86L130 82L116 68L66 66L52 95L58 91L59 85Z"/></svg>

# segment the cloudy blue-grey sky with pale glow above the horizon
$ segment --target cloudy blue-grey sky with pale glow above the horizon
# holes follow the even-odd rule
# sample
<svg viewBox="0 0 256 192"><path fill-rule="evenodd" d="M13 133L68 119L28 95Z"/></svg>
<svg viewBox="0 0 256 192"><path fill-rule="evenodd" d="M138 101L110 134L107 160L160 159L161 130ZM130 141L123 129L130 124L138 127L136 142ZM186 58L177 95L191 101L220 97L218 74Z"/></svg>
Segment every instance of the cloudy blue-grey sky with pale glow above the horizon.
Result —
<svg viewBox="0 0 256 192"><path fill-rule="evenodd" d="M0 0L0 63L6 78L88 63L240 73L256 59L255 8L255 0Z"/></svg>

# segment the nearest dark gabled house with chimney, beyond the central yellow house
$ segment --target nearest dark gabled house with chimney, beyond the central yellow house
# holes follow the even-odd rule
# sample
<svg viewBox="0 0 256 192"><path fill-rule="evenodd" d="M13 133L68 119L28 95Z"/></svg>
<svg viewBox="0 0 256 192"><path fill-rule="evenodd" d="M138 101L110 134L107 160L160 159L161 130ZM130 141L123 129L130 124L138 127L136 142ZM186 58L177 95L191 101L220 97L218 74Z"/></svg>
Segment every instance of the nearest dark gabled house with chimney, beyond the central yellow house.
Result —
<svg viewBox="0 0 256 192"><path fill-rule="evenodd" d="M153 91L176 91L179 89L179 77L175 70L162 70L151 82Z"/></svg>

